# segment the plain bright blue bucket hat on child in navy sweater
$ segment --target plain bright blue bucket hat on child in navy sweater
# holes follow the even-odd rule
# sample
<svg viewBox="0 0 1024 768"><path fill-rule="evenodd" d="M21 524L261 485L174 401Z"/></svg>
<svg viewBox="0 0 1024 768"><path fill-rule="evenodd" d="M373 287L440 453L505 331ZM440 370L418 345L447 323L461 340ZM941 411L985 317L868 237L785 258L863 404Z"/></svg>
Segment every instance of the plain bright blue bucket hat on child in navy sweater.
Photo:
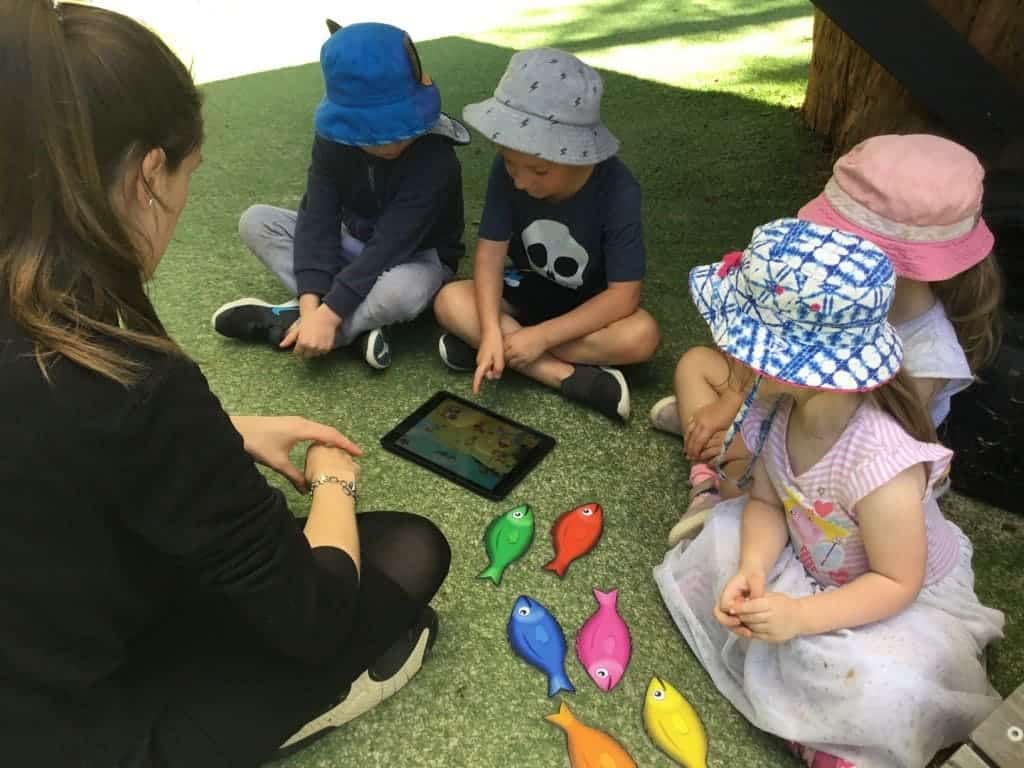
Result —
<svg viewBox="0 0 1024 768"><path fill-rule="evenodd" d="M324 138L375 146L438 133L469 143L465 126L441 113L437 86L424 85L416 46L397 27L339 29L321 48L321 69L327 94L313 124Z"/></svg>

